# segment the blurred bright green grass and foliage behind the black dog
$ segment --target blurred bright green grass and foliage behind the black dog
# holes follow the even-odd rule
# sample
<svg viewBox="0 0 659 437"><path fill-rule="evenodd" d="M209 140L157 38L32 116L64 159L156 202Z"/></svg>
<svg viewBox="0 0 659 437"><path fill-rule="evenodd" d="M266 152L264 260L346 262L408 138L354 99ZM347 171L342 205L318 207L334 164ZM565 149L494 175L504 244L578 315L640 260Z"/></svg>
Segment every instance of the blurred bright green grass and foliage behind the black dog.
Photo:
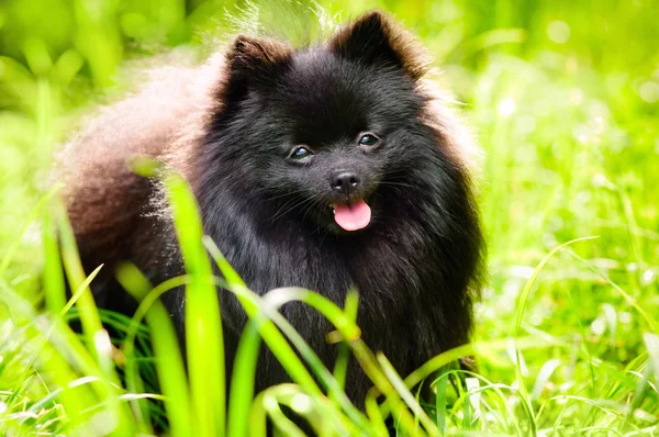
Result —
<svg viewBox="0 0 659 437"><path fill-rule="evenodd" d="M543 270L522 329L556 347L525 351L522 368L530 383L550 369L537 399L592 385L596 397L624 405L636 380L615 374L647 359L644 334L657 334L651 321L659 323L659 2L320 3L330 22L372 8L391 12L423 41L439 80L462 102L484 150L479 197L490 280L476 339L513 334L518 295L550 249L599 236ZM313 11L311 2L3 0L0 257L15 251L2 280L41 299L40 222L20 229L53 184L53 153L81 114L130 88L127 59L174 47L203 57L215 41L253 30L256 16L291 37L315 35L309 23L326 20ZM493 352L481 370L510 380L511 361ZM656 423L659 407L648 405L647 422ZM563 417L579 414L562 408Z"/></svg>

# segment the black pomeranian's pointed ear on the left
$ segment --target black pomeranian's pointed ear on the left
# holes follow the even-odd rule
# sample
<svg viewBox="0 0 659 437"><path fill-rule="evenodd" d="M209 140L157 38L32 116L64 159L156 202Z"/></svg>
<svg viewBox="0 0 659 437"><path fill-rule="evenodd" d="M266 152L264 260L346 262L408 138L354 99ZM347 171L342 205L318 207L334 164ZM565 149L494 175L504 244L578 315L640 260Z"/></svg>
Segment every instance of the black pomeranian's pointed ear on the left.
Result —
<svg viewBox="0 0 659 437"><path fill-rule="evenodd" d="M293 51L277 40L238 35L226 54L226 89L231 97L272 81L290 65Z"/></svg>

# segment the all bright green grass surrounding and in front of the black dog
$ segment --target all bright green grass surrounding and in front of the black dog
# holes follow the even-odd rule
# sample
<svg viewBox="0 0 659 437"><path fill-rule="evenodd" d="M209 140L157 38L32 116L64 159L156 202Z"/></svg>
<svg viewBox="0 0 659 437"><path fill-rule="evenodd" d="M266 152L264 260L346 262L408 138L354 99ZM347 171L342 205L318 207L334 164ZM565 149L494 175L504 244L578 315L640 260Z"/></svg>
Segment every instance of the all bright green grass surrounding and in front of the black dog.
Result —
<svg viewBox="0 0 659 437"><path fill-rule="evenodd" d="M290 22L279 23L281 32L303 38L313 29L293 20L313 9L10 0L0 5L1 435L148 435L163 427L172 436L259 435L266 416L297 435L280 405L324 435L382 434L390 415L402 435L659 434L659 7L323 2L326 16L378 5L429 48L484 150L479 198L490 280L473 343L398 376L359 340L353 294L342 309L306 290L258 296L246 289L202 238L194 202L176 176L168 187L188 274L150 284L125 266L120 280L143 302L137 315L97 310L60 187L48 178L57 144L102 93L125 88L118 78L130 75L116 75L123 60L178 46L208 52L210 35L254 26L256 12L265 25ZM243 19L227 19L225 9ZM222 374L211 262L252 318L232 376ZM75 290L69 301L65 281ZM203 322L188 329L188 354L200 358L189 381L157 300L181 284L190 291L188 321ZM289 300L321 311L336 339L347 340L334 369L277 313ZM70 329L72 320L82 335ZM124 340L110 338L101 321L127 333ZM294 383L254 393L261 340ZM377 388L365 412L343 395L347 354ZM451 365L467 354L476 355L478 374ZM409 388L436 370L436 396L425 404ZM242 390L224 405L230 379Z"/></svg>

